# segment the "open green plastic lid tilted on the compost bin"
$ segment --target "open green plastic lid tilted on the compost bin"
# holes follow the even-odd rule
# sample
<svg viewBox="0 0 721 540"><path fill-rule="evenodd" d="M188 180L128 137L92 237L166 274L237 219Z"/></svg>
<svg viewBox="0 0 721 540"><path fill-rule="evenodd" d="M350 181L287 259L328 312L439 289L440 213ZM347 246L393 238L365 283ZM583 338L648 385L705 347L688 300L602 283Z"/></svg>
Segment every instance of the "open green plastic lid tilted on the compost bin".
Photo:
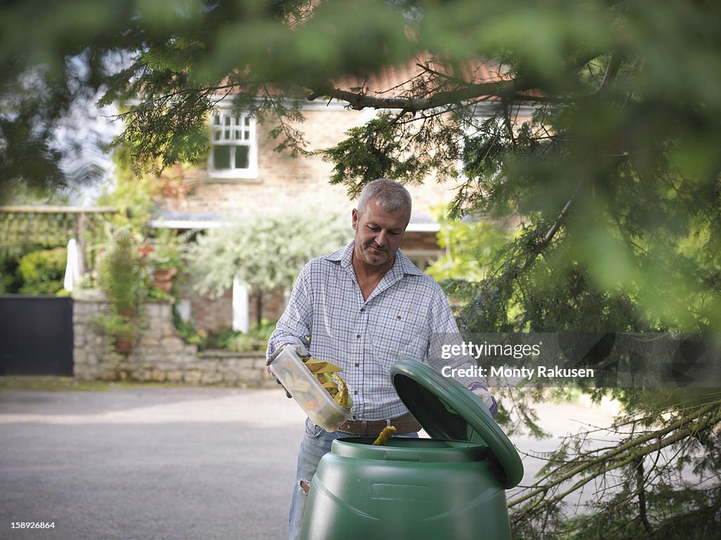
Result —
<svg viewBox="0 0 721 540"><path fill-rule="evenodd" d="M433 438L472 441L488 447L499 465L505 489L523 478L518 451L495 423L488 408L455 379L423 362L402 359L391 367L391 380L410 413Z"/></svg>

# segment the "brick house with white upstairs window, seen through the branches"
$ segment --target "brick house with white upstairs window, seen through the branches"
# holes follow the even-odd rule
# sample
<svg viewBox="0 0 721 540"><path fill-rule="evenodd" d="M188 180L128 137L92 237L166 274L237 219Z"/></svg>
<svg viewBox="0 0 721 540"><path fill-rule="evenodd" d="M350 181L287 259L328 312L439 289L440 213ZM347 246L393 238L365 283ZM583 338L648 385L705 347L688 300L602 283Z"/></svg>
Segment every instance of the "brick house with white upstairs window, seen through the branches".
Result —
<svg viewBox="0 0 721 540"><path fill-rule="evenodd" d="M400 92L417 74L415 64L388 68L363 84L369 93L371 89L389 88ZM496 78L487 68L479 68L476 76L485 81ZM157 219L152 225L203 229L217 225L224 215L242 215L251 209L272 212L273 207L284 201L310 195L347 209L350 231L354 202L348 199L344 186L328 183L332 165L319 157L293 158L288 153L275 152L276 142L269 137L269 128L253 117L232 112L229 101L219 102L211 113L211 152L207 163L178 165L164 172L165 196L157 201ZM492 107L489 103L479 104L478 114L487 114ZM336 101L308 102L302 112L305 122L298 128L303 130L312 150L337 144L345 138L347 130L376 114L371 110L353 110L345 102ZM426 179L423 186L409 187L414 206L401 249L421 269L441 254L436 238L440 226L433 220L431 210L452 199L453 187L433 179ZM285 305L282 292L265 295L262 300L262 317L277 320ZM230 328L234 317L237 320L239 308L236 304L234 313L233 304L233 292L229 290L218 300L187 294L179 307L196 328L218 332ZM241 305L240 309L248 312L240 314L240 319L254 321L255 302L246 299ZM244 323L239 328L243 329Z"/></svg>

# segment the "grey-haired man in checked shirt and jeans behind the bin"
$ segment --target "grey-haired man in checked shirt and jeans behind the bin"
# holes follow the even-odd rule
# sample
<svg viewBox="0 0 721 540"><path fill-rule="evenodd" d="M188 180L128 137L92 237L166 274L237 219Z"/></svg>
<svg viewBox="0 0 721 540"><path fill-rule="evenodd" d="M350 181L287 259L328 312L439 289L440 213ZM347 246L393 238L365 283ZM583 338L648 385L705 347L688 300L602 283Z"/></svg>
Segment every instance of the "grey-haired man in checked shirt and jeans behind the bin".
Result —
<svg viewBox="0 0 721 540"><path fill-rule="evenodd" d="M298 537L311 478L335 438L377 436L385 426L417 436L420 425L395 392L389 371L412 358L441 368L431 354L439 336L458 336L448 300L430 276L399 251L411 215L407 189L392 180L370 182L353 210L353 242L310 261L298 276L286 311L268 341L268 364L291 344L300 356L331 361L353 398L353 415L334 433L306 420L291 500L290 538ZM431 358L430 356L433 356ZM459 379L495 414L480 379Z"/></svg>

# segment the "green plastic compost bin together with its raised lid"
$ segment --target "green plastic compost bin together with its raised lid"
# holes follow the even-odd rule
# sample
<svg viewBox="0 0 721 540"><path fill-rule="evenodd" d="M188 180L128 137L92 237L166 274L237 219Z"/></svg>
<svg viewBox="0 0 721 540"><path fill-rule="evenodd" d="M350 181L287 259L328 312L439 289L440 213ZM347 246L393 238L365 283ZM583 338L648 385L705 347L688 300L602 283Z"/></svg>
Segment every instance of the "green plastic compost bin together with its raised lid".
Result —
<svg viewBox="0 0 721 540"><path fill-rule="evenodd" d="M311 481L301 539L510 540L505 490L523 464L485 405L416 360L391 378L431 438L333 441Z"/></svg>

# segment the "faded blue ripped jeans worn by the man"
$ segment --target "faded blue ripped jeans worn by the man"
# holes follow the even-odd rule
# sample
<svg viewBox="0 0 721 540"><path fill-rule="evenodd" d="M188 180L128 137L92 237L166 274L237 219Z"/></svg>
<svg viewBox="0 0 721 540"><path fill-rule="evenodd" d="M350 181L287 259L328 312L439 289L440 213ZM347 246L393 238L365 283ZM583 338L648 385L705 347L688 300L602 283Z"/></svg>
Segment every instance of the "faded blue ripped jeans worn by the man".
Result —
<svg viewBox="0 0 721 540"><path fill-rule="evenodd" d="M291 515L288 517L288 531L290 540L298 540L303 525L303 513L306 510L308 492L304 486L310 487L313 475L318 469L321 458L330 451L330 445L337 438L356 437L352 433L342 431L325 431L306 418L306 433L298 450L298 467L296 469L296 482L293 483L293 496L291 498ZM406 433L399 437L417 437L418 433ZM303 485L301 485L301 482Z"/></svg>

